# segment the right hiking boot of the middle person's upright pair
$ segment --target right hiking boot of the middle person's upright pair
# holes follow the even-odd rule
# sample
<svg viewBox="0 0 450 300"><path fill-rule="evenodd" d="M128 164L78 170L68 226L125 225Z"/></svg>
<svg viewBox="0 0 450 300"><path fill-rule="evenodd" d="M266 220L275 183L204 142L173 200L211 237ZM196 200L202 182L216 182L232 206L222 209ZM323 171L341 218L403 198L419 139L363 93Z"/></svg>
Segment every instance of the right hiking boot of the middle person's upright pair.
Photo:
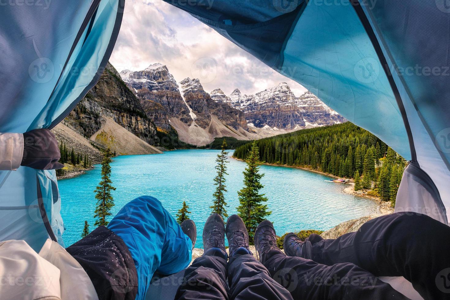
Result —
<svg viewBox="0 0 450 300"><path fill-rule="evenodd" d="M226 222L226 237L229 245L229 256L235 254L252 254L249 249L248 232L244 221L238 215L232 215Z"/></svg>

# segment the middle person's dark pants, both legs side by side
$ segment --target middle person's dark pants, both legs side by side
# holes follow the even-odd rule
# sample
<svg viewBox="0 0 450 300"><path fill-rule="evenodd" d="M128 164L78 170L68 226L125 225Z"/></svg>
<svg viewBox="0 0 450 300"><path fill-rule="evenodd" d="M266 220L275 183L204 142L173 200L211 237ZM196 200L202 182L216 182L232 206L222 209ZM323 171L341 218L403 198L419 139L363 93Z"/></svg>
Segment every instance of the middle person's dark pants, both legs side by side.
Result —
<svg viewBox="0 0 450 300"><path fill-rule="evenodd" d="M293 299L253 255L234 255L227 263L220 251L205 254L186 269L176 300Z"/></svg>

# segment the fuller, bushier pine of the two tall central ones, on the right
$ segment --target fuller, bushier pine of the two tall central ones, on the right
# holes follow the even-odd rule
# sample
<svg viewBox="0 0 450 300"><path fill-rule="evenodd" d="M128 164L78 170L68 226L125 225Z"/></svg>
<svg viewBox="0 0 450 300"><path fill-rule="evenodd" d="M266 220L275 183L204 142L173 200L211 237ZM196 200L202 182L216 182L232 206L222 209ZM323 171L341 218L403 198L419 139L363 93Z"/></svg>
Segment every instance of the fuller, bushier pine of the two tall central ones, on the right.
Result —
<svg viewBox="0 0 450 300"><path fill-rule="evenodd" d="M261 188L264 188L264 185L261 184L261 178L264 174L259 173L261 161L259 160L259 148L256 142L252 143L246 162L247 167L243 171L244 187L238 191L240 205L237 210L247 228L250 242L253 243L258 224L272 213L267 210L267 205L263 204L268 200L267 197L259 193Z"/></svg>

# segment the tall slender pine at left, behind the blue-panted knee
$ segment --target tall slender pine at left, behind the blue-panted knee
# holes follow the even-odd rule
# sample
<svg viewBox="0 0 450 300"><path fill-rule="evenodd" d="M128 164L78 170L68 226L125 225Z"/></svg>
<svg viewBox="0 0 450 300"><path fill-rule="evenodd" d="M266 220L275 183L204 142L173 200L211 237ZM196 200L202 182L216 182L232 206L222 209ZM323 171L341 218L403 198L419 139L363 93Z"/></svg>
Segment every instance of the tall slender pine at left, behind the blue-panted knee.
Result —
<svg viewBox="0 0 450 300"><path fill-rule="evenodd" d="M103 160L102 160L102 180L100 181L97 188L95 188L94 193L95 199L97 199L97 207L94 211L95 226L106 226L108 225L108 221L106 221L106 217L111 215L111 208L114 206L114 199L112 198L111 191L115 191L116 188L112 186L112 181L109 179L111 176L111 166L109 165L111 160L112 153L108 149L103 152Z"/></svg>

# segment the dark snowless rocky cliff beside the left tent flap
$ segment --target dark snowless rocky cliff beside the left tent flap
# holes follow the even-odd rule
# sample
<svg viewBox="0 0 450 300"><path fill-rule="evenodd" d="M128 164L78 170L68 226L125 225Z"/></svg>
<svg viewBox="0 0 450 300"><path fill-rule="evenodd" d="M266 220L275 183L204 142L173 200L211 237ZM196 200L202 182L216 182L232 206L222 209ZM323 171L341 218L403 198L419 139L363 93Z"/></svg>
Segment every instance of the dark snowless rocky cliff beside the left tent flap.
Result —
<svg viewBox="0 0 450 300"><path fill-rule="evenodd" d="M65 122L90 138L109 118L147 143L153 143L156 128L145 114L139 99L108 63L99 82L70 112Z"/></svg>

